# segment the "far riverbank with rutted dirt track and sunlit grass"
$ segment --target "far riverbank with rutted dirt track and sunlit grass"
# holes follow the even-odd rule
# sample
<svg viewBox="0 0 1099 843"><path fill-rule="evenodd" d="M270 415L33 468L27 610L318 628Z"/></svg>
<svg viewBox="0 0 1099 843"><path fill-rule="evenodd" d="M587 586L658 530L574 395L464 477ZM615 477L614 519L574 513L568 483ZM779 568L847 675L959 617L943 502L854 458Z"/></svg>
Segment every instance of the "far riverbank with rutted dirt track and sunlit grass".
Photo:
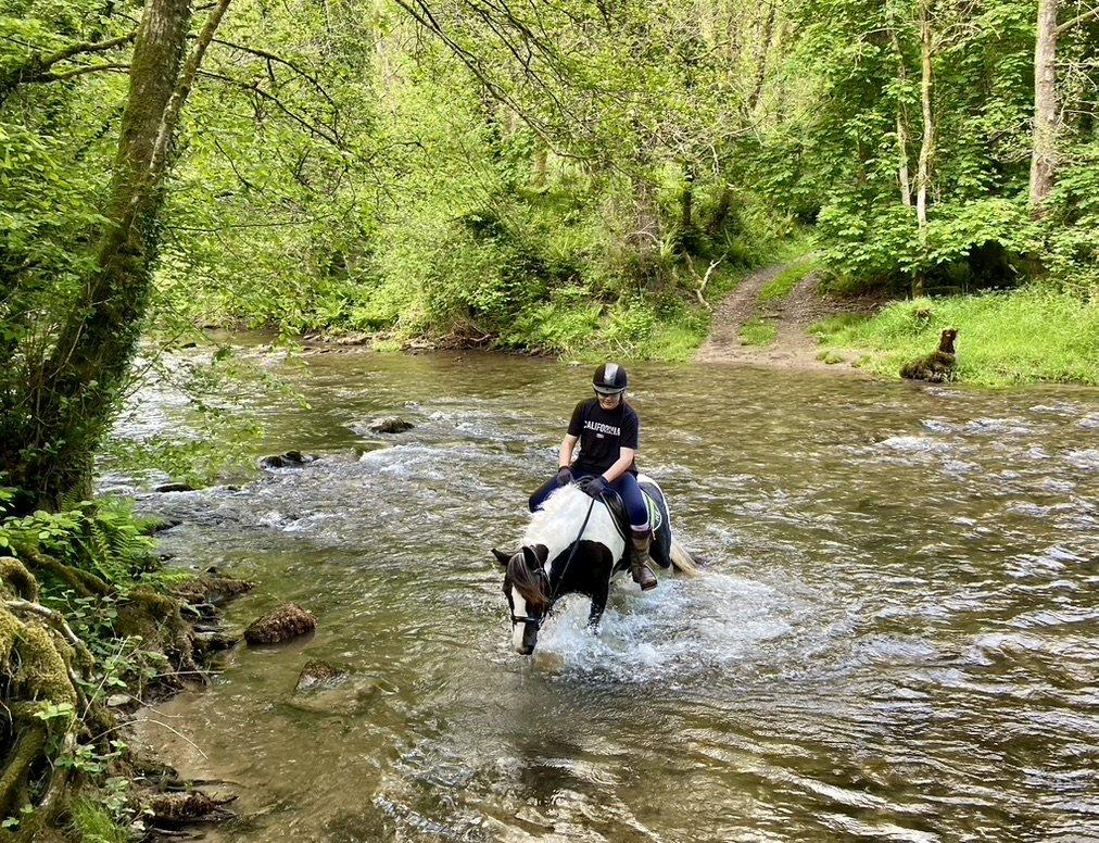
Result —
<svg viewBox="0 0 1099 843"><path fill-rule="evenodd" d="M955 328L959 382L1099 384L1099 304L1078 296L1025 287L889 301L831 297L820 286L811 256L747 275L696 359L896 379Z"/></svg>

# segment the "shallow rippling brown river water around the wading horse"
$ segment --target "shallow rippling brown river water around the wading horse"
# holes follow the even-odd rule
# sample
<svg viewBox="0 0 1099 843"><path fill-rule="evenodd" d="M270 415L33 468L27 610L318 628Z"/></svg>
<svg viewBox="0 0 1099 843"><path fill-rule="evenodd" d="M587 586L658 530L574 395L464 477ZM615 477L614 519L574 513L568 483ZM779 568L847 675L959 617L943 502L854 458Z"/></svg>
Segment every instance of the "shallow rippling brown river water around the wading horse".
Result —
<svg viewBox="0 0 1099 843"><path fill-rule="evenodd" d="M295 600L142 733L231 783L234 841L1099 840L1099 393L636 365L642 465L709 563L509 648L489 548L588 367L324 355L238 489L144 495L176 563ZM147 396L144 428L178 423ZM368 421L398 412L395 436ZM175 421L174 421L175 420ZM125 435L133 432L123 428ZM118 478L115 478L118 480ZM351 681L295 695L322 657Z"/></svg>

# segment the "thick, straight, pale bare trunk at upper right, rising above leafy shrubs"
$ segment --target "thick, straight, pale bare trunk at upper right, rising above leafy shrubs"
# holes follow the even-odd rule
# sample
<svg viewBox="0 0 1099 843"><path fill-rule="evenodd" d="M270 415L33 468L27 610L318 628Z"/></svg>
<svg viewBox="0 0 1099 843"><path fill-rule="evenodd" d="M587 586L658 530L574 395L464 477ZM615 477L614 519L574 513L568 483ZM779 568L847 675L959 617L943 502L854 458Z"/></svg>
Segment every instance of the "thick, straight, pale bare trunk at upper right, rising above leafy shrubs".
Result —
<svg viewBox="0 0 1099 843"><path fill-rule="evenodd" d="M1036 209L1053 190L1057 171L1057 5L1039 0L1034 40L1034 138L1031 147L1030 204Z"/></svg>

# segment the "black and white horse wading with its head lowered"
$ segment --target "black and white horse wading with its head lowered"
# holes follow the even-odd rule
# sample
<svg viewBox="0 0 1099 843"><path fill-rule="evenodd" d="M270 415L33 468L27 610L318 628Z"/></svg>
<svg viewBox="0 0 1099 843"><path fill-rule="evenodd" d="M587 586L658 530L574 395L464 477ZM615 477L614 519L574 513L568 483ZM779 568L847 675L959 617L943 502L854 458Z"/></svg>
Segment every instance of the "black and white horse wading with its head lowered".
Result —
<svg viewBox="0 0 1099 843"><path fill-rule="evenodd" d="M652 559L666 570L698 574L691 555L671 535L671 518L660 487L645 475L637 476L637 484L653 525ZM503 595L515 652L526 656L534 652L539 630L565 595L581 594L591 599L588 629L598 630L611 578L626 568L629 530L628 521L615 513L608 498L591 498L571 484L551 495L531 515L518 551L492 548L506 570Z"/></svg>

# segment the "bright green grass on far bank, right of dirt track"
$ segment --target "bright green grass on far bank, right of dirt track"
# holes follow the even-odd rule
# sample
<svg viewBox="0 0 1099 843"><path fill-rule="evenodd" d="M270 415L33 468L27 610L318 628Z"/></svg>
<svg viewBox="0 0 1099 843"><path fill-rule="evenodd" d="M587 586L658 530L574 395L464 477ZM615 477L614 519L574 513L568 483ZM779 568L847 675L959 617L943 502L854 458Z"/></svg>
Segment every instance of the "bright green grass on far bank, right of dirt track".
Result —
<svg viewBox="0 0 1099 843"><path fill-rule="evenodd" d="M869 352L864 368L899 377L901 365L935 350L944 328L958 329L961 381L1099 385L1099 302L1040 286L897 302L873 318L826 320L813 333L825 348Z"/></svg>

